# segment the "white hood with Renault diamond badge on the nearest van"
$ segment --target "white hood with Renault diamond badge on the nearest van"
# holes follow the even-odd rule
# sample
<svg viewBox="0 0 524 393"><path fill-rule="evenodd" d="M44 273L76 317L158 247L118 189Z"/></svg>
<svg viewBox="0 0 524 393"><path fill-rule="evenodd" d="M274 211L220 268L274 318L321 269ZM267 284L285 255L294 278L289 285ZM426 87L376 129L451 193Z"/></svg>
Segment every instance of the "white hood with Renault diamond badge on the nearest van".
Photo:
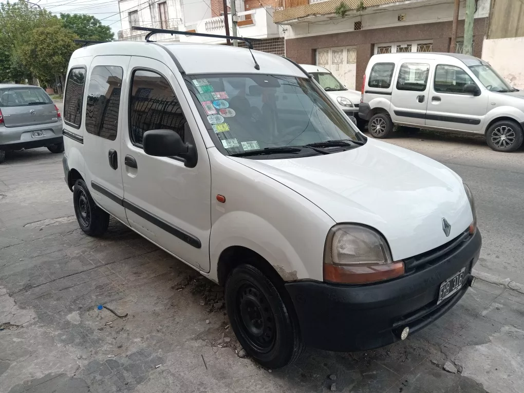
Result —
<svg viewBox="0 0 524 393"><path fill-rule="evenodd" d="M368 139L364 146L322 156L232 159L296 191L337 223L376 228L394 260L445 244L473 221L462 179L455 172L381 141ZM451 224L447 237L443 218Z"/></svg>

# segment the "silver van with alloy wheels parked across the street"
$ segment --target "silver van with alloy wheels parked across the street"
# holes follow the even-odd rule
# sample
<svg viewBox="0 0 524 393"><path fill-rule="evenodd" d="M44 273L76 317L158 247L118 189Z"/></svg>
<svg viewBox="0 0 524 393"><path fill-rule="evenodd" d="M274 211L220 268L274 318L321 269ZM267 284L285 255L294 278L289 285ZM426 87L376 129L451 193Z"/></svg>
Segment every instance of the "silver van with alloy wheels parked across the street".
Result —
<svg viewBox="0 0 524 393"><path fill-rule="evenodd" d="M375 138L387 138L396 124L485 135L496 151L515 151L524 139L524 92L465 54L376 54L358 115Z"/></svg>

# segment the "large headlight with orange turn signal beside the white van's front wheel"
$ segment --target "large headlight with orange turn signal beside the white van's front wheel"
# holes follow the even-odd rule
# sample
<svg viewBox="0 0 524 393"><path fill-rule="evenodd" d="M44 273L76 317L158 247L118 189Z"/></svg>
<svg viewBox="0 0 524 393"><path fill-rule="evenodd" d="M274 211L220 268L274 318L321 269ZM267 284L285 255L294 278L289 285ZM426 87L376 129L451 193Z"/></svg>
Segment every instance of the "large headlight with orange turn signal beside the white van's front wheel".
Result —
<svg viewBox="0 0 524 393"><path fill-rule="evenodd" d="M367 283L404 274L403 261L393 261L378 232L355 224L335 225L324 249L324 281Z"/></svg>

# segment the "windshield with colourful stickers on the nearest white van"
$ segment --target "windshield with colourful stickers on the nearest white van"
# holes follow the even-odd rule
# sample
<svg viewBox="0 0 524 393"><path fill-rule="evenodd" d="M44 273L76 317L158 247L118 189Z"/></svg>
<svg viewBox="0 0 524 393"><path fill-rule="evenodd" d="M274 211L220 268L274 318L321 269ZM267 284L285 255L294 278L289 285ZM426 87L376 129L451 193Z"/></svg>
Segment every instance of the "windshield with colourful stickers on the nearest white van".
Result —
<svg viewBox="0 0 524 393"><path fill-rule="evenodd" d="M225 154L328 140L365 141L310 79L264 74L188 78L202 120Z"/></svg>

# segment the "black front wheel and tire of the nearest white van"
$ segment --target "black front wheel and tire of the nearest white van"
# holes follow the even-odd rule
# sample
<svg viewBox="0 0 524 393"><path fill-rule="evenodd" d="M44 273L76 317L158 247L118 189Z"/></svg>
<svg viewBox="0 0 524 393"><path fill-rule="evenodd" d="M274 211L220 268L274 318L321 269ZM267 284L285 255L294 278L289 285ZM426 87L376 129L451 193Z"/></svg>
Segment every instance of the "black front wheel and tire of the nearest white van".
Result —
<svg viewBox="0 0 524 393"><path fill-rule="evenodd" d="M233 269L225 286L227 315L238 341L256 362L271 369L296 361L304 351L291 300L283 283L277 286L247 264Z"/></svg>

